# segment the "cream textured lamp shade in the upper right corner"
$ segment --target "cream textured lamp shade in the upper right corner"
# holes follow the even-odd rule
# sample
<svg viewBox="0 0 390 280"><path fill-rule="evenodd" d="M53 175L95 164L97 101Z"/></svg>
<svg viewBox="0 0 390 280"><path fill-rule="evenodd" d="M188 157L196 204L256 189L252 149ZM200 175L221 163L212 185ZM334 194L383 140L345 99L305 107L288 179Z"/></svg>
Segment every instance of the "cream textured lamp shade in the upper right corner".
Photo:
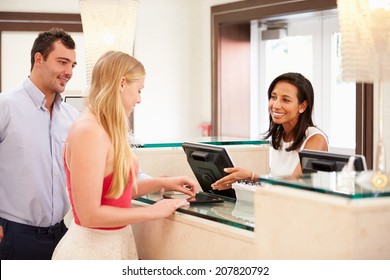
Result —
<svg viewBox="0 0 390 280"><path fill-rule="evenodd" d="M338 0L345 81L390 81L390 0Z"/></svg>

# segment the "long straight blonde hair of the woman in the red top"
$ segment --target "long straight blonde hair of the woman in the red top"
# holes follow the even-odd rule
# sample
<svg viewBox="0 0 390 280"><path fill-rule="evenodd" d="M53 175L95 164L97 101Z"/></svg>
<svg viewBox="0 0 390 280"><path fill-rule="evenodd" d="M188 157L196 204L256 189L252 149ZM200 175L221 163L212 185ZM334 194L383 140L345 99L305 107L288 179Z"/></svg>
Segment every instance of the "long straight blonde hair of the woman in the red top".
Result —
<svg viewBox="0 0 390 280"><path fill-rule="evenodd" d="M103 54L92 70L89 106L107 132L114 147L113 180L107 197L118 198L136 173L134 154L129 146L129 120L121 99L121 79L128 82L145 76L145 69L134 57L119 51ZM135 185L136 187L136 185Z"/></svg>

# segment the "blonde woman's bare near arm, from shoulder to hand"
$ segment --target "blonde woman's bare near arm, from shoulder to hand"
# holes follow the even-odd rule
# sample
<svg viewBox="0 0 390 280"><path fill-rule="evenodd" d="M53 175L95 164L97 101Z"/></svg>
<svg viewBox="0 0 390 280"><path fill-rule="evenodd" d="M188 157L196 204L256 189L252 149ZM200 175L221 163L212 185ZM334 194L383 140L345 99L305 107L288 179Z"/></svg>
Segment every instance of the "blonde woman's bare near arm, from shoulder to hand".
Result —
<svg viewBox="0 0 390 280"><path fill-rule="evenodd" d="M91 140L93 139L93 140ZM167 199L148 207L119 208L101 205L104 177L112 173L113 150L104 130L93 121L82 121L69 134L67 162L71 171L72 196L80 223L85 227L117 227L163 218L187 206L184 199ZM147 190L167 186L170 180L151 181ZM175 181L178 188L182 182ZM141 183L142 186L142 183ZM187 192L191 192L187 190Z"/></svg>

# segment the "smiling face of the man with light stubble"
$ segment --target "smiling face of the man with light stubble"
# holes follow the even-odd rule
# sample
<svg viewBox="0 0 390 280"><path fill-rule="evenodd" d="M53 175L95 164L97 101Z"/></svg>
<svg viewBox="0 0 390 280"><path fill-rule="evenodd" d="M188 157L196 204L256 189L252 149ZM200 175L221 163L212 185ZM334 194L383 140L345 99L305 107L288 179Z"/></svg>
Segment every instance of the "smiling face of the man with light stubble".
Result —
<svg viewBox="0 0 390 280"><path fill-rule="evenodd" d="M39 69L40 89L45 94L62 93L76 66L76 51L67 49L61 41L54 42L54 49L44 60L40 53L35 56Z"/></svg>

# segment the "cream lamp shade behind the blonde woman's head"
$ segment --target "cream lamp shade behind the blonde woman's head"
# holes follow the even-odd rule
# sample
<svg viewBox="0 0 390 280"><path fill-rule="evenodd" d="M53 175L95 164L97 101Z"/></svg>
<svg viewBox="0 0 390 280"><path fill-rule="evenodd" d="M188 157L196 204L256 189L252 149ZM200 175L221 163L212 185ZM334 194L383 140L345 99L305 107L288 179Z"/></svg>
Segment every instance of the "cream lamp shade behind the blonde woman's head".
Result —
<svg viewBox="0 0 390 280"><path fill-rule="evenodd" d="M139 0L79 0L85 39L87 82L109 50L133 54Z"/></svg>

